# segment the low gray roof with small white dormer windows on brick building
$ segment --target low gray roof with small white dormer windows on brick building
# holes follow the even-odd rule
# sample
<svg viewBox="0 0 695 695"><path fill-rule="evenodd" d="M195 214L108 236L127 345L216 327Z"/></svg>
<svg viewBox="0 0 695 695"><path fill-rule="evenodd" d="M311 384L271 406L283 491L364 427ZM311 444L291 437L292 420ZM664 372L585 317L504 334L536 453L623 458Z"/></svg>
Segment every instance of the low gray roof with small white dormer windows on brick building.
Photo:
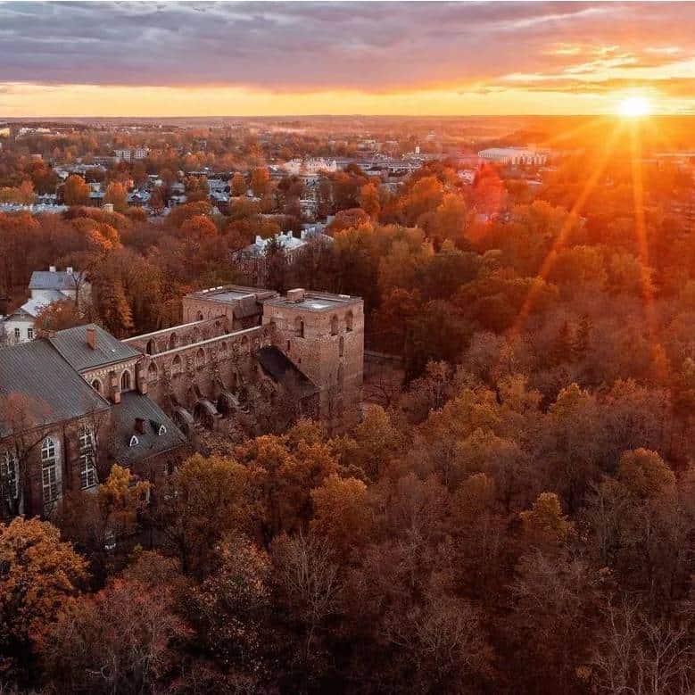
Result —
<svg viewBox="0 0 695 695"><path fill-rule="evenodd" d="M144 433L137 432L136 418L144 420ZM130 466L186 443L186 437L166 413L150 398L136 391L121 393L120 403L112 405L112 424L112 455L121 466ZM166 430L164 434L158 434L161 426ZM130 446L134 434L137 444Z"/></svg>

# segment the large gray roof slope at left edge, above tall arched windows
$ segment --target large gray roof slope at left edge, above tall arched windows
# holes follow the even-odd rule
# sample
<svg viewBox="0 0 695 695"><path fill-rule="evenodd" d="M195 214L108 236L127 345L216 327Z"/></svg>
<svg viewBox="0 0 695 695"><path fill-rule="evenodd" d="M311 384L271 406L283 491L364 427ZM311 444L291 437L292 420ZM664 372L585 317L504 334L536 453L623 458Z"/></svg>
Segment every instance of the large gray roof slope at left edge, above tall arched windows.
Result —
<svg viewBox="0 0 695 695"><path fill-rule="evenodd" d="M50 343L37 339L0 349L0 395L23 394L31 425L50 425L108 410L105 401ZM11 426L0 419L0 436Z"/></svg>

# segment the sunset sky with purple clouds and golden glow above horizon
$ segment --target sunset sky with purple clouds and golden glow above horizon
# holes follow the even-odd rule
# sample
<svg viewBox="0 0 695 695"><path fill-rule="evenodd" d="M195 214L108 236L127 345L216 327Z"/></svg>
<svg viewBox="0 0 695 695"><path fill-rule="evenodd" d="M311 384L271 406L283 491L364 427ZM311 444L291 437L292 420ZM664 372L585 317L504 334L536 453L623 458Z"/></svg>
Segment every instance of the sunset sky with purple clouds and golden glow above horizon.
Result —
<svg viewBox="0 0 695 695"><path fill-rule="evenodd" d="M695 112L695 4L1 2L0 119Z"/></svg>

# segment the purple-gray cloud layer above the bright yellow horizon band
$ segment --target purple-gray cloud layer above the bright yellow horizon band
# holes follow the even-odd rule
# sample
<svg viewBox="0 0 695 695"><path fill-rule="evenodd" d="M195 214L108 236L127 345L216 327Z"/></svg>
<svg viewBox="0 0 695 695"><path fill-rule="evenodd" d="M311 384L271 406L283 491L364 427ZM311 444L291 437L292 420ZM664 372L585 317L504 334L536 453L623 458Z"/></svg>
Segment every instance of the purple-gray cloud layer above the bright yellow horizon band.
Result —
<svg viewBox="0 0 695 695"><path fill-rule="evenodd" d="M581 50L554 51L563 45ZM666 45L681 53L645 51ZM639 65L691 57L695 5L0 4L2 82L384 92L511 72L554 79L602 46Z"/></svg>

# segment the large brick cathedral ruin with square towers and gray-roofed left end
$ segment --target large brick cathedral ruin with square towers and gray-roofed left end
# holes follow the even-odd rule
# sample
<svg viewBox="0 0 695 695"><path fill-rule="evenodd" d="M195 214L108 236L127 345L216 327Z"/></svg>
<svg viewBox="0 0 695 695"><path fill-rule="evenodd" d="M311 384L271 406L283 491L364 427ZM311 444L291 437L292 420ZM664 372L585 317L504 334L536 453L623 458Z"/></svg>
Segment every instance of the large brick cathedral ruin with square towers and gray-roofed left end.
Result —
<svg viewBox="0 0 695 695"><path fill-rule="evenodd" d="M156 484L199 428L359 418L359 298L228 285L187 295L183 314L124 341L89 325L0 350L0 516L50 516L114 462Z"/></svg>

